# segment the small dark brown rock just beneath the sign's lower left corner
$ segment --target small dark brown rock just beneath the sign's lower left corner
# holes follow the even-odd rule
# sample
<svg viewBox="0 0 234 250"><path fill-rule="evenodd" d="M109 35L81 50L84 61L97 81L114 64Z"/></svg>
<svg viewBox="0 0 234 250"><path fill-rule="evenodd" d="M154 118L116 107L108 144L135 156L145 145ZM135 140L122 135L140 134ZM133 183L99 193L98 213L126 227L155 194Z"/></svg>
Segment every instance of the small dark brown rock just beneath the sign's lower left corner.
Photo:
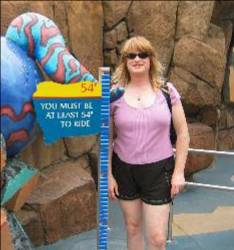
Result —
<svg viewBox="0 0 234 250"><path fill-rule="evenodd" d="M20 154L20 159L36 168L47 167L66 158L63 140L45 144L42 134L39 134L35 141Z"/></svg>

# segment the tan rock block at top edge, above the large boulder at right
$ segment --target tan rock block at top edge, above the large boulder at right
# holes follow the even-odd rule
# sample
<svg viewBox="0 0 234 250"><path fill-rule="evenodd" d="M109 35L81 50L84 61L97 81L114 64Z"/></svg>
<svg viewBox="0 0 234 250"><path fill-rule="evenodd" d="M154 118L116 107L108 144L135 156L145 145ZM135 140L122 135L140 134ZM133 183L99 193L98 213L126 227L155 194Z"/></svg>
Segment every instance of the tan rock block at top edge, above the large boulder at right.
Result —
<svg viewBox="0 0 234 250"><path fill-rule="evenodd" d="M180 1L176 38L184 35L203 40L207 34L214 1Z"/></svg>

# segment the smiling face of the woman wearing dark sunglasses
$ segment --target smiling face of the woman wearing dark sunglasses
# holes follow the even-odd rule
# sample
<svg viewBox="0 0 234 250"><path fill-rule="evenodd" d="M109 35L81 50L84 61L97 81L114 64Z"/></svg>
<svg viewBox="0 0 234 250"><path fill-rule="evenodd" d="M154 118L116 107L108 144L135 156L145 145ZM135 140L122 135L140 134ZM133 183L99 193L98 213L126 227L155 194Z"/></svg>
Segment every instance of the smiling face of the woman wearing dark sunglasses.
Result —
<svg viewBox="0 0 234 250"><path fill-rule="evenodd" d="M148 74L150 70L150 58L146 52L132 52L126 57L127 69L130 75Z"/></svg>

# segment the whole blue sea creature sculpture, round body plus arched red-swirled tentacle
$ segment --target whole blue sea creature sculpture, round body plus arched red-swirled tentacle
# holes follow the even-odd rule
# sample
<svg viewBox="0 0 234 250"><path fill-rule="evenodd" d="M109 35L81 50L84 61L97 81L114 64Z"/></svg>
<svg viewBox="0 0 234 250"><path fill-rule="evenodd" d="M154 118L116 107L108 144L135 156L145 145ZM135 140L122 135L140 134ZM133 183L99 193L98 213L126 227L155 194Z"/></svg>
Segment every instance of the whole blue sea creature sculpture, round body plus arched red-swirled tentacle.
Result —
<svg viewBox="0 0 234 250"><path fill-rule="evenodd" d="M32 94L43 78L41 69L55 82L96 79L66 48L55 23L37 13L25 13L1 37L1 133L8 157L17 155L38 130Z"/></svg>

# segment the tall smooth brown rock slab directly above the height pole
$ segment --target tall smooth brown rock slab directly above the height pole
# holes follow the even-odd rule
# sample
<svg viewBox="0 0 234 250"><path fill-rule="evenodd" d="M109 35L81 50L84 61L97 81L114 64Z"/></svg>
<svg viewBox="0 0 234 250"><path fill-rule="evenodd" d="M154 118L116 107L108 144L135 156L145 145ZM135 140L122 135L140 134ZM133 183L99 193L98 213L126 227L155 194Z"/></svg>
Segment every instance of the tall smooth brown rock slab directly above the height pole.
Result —
<svg viewBox="0 0 234 250"><path fill-rule="evenodd" d="M66 2L71 51L98 78L103 65L103 10L101 1Z"/></svg>

